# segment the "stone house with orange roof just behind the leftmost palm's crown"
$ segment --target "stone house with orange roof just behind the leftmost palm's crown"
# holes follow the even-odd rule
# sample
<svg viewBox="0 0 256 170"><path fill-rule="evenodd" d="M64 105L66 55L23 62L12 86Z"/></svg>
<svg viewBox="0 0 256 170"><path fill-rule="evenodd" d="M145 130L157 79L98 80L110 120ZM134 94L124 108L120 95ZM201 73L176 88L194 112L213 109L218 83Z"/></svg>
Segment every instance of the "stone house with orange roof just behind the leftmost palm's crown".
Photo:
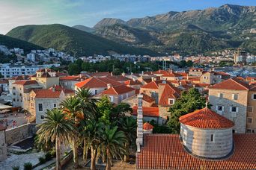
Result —
<svg viewBox="0 0 256 170"><path fill-rule="evenodd" d="M58 108L66 98L63 90L36 89L25 96L24 109L34 117L37 124L43 122L47 110Z"/></svg>

